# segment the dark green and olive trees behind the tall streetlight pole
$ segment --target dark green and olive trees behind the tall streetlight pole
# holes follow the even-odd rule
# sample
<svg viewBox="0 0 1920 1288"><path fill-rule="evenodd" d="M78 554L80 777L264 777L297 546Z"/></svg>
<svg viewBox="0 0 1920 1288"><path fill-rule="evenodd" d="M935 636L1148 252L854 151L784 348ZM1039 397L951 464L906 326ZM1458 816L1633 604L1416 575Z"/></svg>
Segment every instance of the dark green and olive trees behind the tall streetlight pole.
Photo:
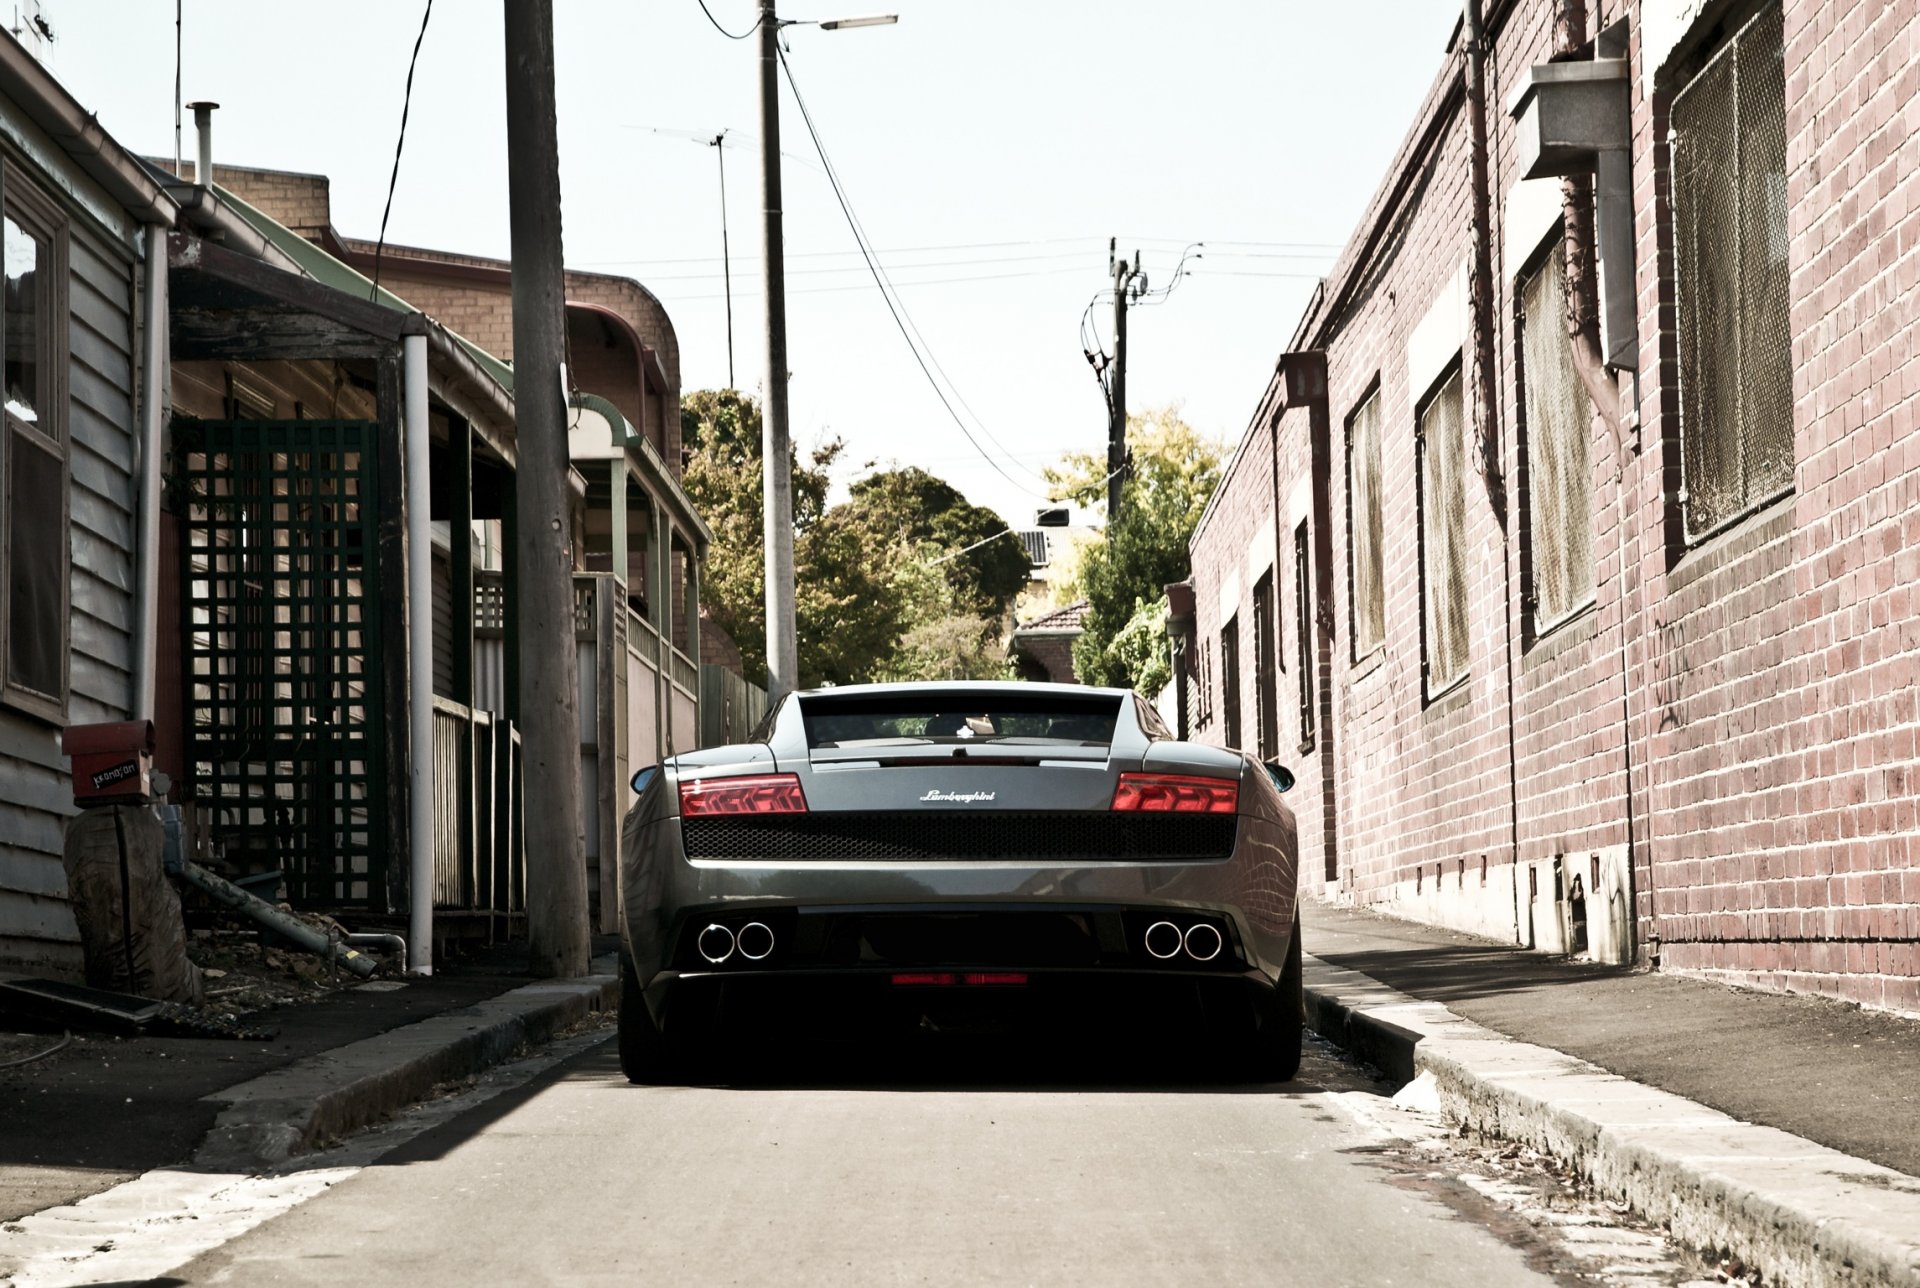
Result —
<svg viewBox="0 0 1920 1288"><path fill-rule="evenodd" d="M766 555L760 407L733 390L682 399L682 480L714 532L703 603L739 645L749 680L766 674ZM1000 624L1025 585L1027 553L993 511L918 468L856 482L828 509L841 443L793 463L799 683L1000 678ZM983 541L966 555L954 555Z"/></svg>

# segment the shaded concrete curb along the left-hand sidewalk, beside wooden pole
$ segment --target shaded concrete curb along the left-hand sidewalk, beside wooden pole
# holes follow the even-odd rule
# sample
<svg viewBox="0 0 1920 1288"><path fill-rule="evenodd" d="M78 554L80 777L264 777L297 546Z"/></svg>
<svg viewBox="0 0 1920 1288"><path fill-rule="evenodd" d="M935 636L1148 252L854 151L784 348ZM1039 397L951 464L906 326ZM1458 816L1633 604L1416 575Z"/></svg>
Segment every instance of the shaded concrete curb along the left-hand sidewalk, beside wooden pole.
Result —
<svg viewBox="0 0 1920 1288"><path fill-rule="evenodd" d="M597 973L524 985L378 1037L311 1056L207 1096L225 1104L194 1165L252 1171L424 1100L440 1083L470 1077L540 1044L620 996L614 958Z"/></svg>

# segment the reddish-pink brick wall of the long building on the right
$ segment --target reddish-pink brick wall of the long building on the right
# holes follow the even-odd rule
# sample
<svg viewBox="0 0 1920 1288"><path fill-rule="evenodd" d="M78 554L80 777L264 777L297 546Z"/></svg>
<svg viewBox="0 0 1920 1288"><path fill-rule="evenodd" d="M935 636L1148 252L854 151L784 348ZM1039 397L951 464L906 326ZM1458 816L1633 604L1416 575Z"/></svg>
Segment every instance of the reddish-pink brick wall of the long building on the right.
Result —
<svg viewBox="0 0 1920 1288"><path fill-rule="evenodd" d="M1505 104L1551 54L1553 8L1519 0L1488 15L1498 388L1476 407L1475 332L1448 321L1473 250L1469 117L1450 54L1290 346L1325 353L1325 428L1286 405L1277 376L1194 534L1212 701L1225 689L1221 622L1252 614L1248 539L1261 524L1284 534L1283 664L1296 666L1290 534L1302 489L1315 495L1325 468L1311 522L1331 564L1319 582L1329 603L1317 605L1331 626L1331 720L1315 752L1294 751L1296 701L1283 701L1281 720L1283 758L1321 797L1296 800L1308 879L1321 875L1321 847L1340 896L1542 948L1567 944L1578 879L1596 952L1920 1014L1920 6L1784 4L1793 488L1692 543L1680 524L1667 113L1713 25L1755 8L1597 6L1596 31L1624 21L1628 35L1640 372L1619 376L1622 424L1592 422L1594 599L1540 622L1526 597L1515 284L1559 250L1557 192L1521 184ZM1707 25L1693 21L1701 8ZM1469 666L1434 695L1421 672L1415 428L1446 363L1461 359L1467 428L1498 443L1509 505L1501 520L1469 472ZM1356 658L1344 422L1373 392L1386 639ZM1250 668L1250 647L1242 658ZM1250 670L1240 691L1256 691ZM1198 737L1219 741L1219 724ZM1244 727L1252 737L1252 708ZM1319 810L1332 820L1325 843L1311 835Z"/></svg>

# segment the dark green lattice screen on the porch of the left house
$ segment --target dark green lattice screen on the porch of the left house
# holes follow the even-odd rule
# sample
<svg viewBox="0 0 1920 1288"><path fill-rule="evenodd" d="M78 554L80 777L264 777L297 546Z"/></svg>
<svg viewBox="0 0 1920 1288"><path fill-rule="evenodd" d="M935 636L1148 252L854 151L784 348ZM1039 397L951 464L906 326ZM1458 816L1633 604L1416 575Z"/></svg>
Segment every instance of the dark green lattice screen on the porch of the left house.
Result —
<svg viewBox="0 0 1920 1288"><path fill-rule="evenodd" d="M175 420L192 793L303 906L388 902L376 461L372 422Z"/></svg>

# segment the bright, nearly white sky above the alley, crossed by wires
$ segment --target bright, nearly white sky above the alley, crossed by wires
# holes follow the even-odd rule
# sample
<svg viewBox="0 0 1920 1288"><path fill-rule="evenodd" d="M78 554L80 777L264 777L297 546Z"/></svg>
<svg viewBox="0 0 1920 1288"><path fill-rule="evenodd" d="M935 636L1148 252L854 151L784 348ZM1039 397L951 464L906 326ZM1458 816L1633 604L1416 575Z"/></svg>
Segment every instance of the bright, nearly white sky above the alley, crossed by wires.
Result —
<svg viewBox="0 0 1920 1288"><path fill-rule="evenodd" d="M1108 238L1162 303L1129 315L1127 403L1179 403L1236 441L1273 359L1440 69L1450 0L783 0L826 154L975 451L922 374L781 88L791 420L868 463L920 465L1025 526L1035 472L1104 453L1081 321ZM184 0L188 102L221 159L332 177L334 223L380 228L424 0ZM745 33L753 0L707 0ZM728 131L735 384L764 369L756 42L697 0L557 0L566 263L639 278L687 390L728 382L720 169ZM48 65L121 144L173 152L173 6L42 0ZM311 19L324 15L324 23ZM438 0L413 84L392 242L507 257L501 6ZM186 155L194 152L186 121ZM1094 309L1112 344L1112 303Z"/></svg>

